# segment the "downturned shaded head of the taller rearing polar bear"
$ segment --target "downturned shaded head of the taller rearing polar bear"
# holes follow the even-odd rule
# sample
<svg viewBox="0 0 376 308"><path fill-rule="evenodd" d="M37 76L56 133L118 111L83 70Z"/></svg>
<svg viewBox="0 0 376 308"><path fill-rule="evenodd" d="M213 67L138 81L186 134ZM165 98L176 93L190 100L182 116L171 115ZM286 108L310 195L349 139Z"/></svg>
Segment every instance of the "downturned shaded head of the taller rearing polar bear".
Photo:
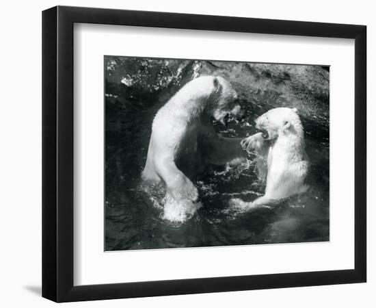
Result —
<svg viewBox="0 0 376 308"><path fill-rule="evenodd" d="M242 116L237 103L238 94L223 77L213 77L213 92L210 97L209 113L215 120L226 125L230 118Z"/></svg>

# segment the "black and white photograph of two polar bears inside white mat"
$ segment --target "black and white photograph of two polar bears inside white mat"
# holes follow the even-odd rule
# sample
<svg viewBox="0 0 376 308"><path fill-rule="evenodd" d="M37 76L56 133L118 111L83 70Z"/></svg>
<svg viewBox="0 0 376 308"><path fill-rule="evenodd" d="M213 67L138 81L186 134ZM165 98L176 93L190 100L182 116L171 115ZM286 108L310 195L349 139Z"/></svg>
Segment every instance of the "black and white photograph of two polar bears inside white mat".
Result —
<svg viewBox="0 0 376 308"><path fill-rule="evenodd" d="M330 66L105 55L105 251L330 240Z"/></svg>

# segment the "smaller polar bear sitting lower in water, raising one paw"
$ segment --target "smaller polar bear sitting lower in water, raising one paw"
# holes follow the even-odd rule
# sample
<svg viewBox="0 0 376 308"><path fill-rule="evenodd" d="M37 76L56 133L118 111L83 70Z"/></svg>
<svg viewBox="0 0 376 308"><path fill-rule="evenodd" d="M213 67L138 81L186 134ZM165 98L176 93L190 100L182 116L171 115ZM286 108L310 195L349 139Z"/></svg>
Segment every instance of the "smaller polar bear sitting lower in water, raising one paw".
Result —
<svg viewBox="0 0 376 308"><path fill-rule="evenodd" d="M255 120L260 133L241 141L243 149L256 154L258 179L265 183L264 196L253 202L232 199L234 205L250 208L306 192L308 156L304 129L296 108L279 107Z"/></svg>

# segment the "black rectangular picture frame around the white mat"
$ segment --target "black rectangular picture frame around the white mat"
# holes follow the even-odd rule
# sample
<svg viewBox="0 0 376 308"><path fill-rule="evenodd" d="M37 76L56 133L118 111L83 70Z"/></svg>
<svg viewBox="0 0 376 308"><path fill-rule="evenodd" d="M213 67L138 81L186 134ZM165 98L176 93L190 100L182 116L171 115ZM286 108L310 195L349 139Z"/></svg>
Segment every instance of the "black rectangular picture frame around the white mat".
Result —
<svg viewBox="0 0 376 308"><path fill-rule="evenodd" d="M73 25L355 39L354 269L73 285ZM56 302L366 282L366 26L57 6L42 12L42 296Z"/></svg>

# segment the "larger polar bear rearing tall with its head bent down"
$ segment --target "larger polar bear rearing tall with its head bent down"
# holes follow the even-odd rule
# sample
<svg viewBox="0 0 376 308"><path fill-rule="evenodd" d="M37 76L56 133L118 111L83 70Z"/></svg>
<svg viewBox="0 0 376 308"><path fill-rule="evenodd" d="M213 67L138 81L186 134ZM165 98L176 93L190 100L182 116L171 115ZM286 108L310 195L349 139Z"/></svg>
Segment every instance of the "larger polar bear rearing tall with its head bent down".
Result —
<svg viewBox="0 0 376 308"><path fill-rule="evenodd" d="M223 138L211 125L211 117L226 125L241 115L236 99L226 79L204 76L189 81L157 112L142 179L165 185L164 218L183 221L192 212L198 190L191 179L207 164L246 158L241 138Z"/></svg>

